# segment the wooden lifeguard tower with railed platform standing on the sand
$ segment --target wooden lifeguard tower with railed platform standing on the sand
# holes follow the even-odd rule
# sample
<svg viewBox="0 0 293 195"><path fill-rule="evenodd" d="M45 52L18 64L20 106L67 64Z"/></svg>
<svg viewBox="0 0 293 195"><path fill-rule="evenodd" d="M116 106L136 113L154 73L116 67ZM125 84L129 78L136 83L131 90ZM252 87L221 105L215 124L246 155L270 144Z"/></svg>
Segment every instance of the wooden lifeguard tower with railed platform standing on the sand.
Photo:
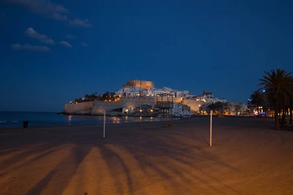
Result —
<svg viewBox="0 0 293 195"><path fill-rule="evenodd" d="M162 127L168 127L173 124L172 109L173 109L173 95L172 94L158 94L156 108L160 109ZM166 121L166 122L165 122Z"/></svg>

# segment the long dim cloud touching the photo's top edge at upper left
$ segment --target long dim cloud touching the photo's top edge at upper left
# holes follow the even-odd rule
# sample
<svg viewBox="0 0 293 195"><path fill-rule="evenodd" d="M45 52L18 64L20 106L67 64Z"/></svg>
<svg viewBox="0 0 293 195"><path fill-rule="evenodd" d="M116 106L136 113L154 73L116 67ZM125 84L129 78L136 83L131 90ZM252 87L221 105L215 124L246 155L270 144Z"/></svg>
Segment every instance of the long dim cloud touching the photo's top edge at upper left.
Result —
<svg viewBox="0 0 293 195"><path fill-rule="evenodd" d="M25 8L33 10L38 14L47 15L55 20L68 20L61 14L69 14L67 8L62 5L57 5L49 0L6 0L10 3L21 5Z"/></svg>

